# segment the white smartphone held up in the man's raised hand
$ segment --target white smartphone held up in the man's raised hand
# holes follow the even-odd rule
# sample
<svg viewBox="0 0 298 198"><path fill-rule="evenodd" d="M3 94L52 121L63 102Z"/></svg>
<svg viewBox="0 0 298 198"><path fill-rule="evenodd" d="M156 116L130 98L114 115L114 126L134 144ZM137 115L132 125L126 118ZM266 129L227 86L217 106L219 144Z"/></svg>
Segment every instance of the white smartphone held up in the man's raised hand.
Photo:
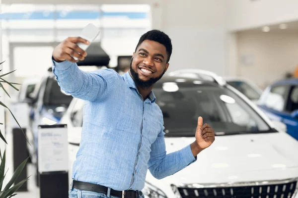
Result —
<svg viewBox="0 0 298 198"><path fill-rule="evenodd" d="M80 32L80 34L78 35L79 37L86 39L87 41L89 41L89 45L91 44L91 42L99 35L99 29L93 25L92 23L89 23L86 27L84 27L84 29ZM78 47L86 50L89 45L83 44L83 43L77 43ZM80 54L80 53L78 53ZM78 60L78 58L73 57L75 60Z"/></svg>

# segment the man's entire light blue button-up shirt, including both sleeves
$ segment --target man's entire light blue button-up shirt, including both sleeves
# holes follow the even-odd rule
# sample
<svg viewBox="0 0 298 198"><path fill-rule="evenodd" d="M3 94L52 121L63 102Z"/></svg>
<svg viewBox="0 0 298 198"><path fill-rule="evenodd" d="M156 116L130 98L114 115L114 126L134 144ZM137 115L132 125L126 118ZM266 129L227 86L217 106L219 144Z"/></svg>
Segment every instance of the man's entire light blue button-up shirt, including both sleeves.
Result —
<svg viewBox="0 0 298 198"><path fill-rule="evenodd" d="M68 94L86 100L73 178L114 190L139 190L147 170L161 179L196 160L190 145L166 153L163 116L153 92L143 100L129 73L81 71L53 60L53 72Z"/></svg>

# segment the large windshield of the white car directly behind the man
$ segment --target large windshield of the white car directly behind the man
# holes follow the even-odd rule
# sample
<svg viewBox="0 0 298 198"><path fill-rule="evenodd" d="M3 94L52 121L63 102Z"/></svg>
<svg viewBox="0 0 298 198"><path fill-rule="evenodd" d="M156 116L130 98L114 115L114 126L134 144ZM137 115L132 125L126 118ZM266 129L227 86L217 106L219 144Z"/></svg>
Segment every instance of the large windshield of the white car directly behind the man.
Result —
<svg viewBox="0 0 298 198"><path fill-rule="evenodd" d="M194 136L199 116L214 128L216 135L272 132L259 114L231 90L182 84L174 90L153 90L163 113L166 136Z"/></svg>

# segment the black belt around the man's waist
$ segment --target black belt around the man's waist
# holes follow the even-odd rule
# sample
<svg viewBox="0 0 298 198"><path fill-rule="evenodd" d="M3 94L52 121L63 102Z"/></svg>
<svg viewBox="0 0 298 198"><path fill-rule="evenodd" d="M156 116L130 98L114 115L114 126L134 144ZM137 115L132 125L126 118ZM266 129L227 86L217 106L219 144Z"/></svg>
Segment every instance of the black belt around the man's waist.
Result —
<svg viewBox="0 0 298 198"><path fill-rule="evenodd" d="M73 186L72 188L83 190L83 191L92 191L96 193L108 193L108 188L105 186L100 186L97 184L91 184L87 182L80 182L73 180ZM139 196L142 196L142 191L116 191L111 189L110 192L111 196L118 197L118 198L138 198Z"/></svg>

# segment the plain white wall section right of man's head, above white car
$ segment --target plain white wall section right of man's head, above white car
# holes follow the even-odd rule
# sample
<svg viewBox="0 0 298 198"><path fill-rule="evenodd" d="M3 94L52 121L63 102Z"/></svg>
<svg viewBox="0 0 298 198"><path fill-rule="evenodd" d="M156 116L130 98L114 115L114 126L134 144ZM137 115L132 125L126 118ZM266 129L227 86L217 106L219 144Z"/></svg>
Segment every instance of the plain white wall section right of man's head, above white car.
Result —
<svg viewBox="0 0 298 198"><path fill-rule="evenodd" d="M226 70L225 2L222 0L164 0L162 30L172 39L169 71ZM153 23L154 25L154 23Z"/></svg>

